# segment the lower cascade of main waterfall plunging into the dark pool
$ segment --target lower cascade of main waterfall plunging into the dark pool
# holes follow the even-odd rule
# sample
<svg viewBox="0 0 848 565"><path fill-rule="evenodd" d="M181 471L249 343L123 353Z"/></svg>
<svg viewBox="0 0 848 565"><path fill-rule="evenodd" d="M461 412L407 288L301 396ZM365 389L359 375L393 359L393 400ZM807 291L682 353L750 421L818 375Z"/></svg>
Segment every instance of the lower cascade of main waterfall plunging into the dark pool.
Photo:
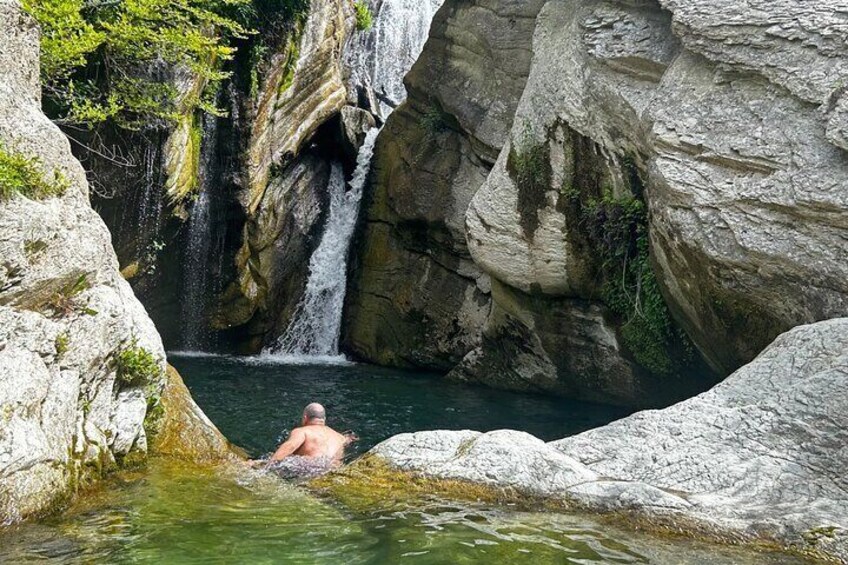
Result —
<svg viewBox="0 0 848 565"><path fill-rule="evenodd" d="M306 291L295 308L289 327L268 353L282 355L292 361L303 357L339 356L348 252L378 133L379 130L374 128L366 135L347 191L342 166L333 163L328 185L330 210L324 234L309 260Z"/></svg>

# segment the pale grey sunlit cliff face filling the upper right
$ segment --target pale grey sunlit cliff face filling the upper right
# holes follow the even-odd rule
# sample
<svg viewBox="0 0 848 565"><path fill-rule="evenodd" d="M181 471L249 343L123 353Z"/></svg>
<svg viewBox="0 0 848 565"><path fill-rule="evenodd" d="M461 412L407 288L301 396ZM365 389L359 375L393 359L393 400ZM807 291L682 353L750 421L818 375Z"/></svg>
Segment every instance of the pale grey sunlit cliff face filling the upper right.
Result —
<svg viewBox="0 0 848 565"><path fill-rule="evenodd" d="M845 315L848 32L833 2L762 7L548 2L510 141L468 209L475 262L523 293L596 299L592 260L581 246L584 227L568 202L575 194L599 197L600 178L614 197L646 200L663 296L719 375L782 331ZM535 196L509 170L510 151L528 136L544 145L550 164L549 186ZM592 161L596 180L586 182L576 165ZM638 186L628 182L628 169ZM521 324L527 341L544 341L540 314L523 310L531 312ZM608 336L618 331L609 320L596 317L590 325ZM501 328L490 318L487 333ZM601 368L593 383L567 356L565 364L553 363L561 386L619 399L635 392L637 402L649 395L656 377L632 363L627 344L587 345L606 343L609 351L616 341L621 353L607 356L609 366L629 371L616 376ZM587 353L585 346L572 350ZM552 354L542 347L536 364ZM481 358L486 348L470 361L491 370ZM471 371L460 377L488 379L466 365Z"/></svg>

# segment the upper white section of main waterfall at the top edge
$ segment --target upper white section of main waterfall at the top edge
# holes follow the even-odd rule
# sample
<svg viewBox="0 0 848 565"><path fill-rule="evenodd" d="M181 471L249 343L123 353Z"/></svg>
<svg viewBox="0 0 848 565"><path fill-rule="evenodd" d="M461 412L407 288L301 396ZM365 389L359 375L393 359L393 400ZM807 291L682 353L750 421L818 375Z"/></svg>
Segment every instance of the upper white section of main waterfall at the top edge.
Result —
<svg viewBox="0 0 848 565"><path fill-rule="evenodd" d="M385 120L406 99L403 77L421 54L433 16L444 0L370 0L374 23L355 33L345 50L354 91L374 93L379 117Z"/></svg>

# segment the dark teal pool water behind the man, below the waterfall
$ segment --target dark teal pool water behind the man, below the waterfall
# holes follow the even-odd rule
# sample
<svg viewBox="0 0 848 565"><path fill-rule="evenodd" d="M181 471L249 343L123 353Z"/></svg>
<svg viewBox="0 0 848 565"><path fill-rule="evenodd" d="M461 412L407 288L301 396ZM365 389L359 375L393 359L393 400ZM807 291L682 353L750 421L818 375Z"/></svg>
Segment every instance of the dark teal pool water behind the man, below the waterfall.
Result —
<svg viewBox="0 0 848 565"><path fill-rule="evenodd" d="M238 358L172 357L192 396L234 443L273 451L303 407L321 402L328 424L353 430L354 453L403 432L525 430L545 440L625 416L621 408L449 383L435 375L369 365L251 364Z"/></svg>

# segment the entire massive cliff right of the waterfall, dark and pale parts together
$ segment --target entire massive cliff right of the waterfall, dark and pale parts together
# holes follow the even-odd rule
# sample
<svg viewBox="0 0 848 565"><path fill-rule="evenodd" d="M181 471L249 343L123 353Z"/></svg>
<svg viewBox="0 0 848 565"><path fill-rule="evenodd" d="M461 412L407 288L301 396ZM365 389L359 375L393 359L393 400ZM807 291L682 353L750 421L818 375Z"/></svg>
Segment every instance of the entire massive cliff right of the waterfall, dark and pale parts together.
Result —
<svg viewBox="0 0 848 565"><path fill-rule="evenodd" d="M457 31L479 4L442 10L381 136L353 351L661 405L795 325L848 313L848 32L835 3L550 1L529 23ZM516 6L489 4L488 17ZM474 59L495 41L532 45L525 87L521 65ZM498 105L481 77L498 77L508 111L487 110ZM478 166L439 173L468 151L426 157L424 117L440 115L428 105L447 116L439 135L472 140ZM500 133L479 134L463 114L475 107Z"/></svg>

